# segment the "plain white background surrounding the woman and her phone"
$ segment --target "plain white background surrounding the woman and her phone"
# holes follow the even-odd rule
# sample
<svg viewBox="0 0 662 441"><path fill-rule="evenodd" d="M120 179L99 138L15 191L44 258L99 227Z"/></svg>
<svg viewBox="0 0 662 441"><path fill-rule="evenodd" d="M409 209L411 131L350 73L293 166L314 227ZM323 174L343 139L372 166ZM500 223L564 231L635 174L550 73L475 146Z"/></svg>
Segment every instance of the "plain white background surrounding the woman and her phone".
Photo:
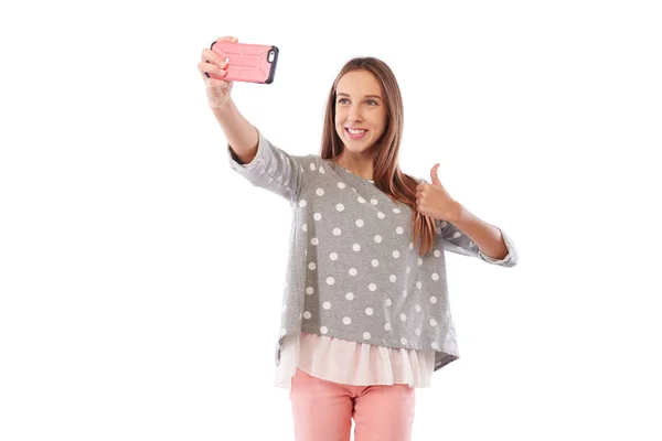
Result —
<svg viewBox="0 0 662 441"><path fill-rule="evenodd" d="M448 255L461 357L417 390L415 441L662 439L654 3L2 6L0 439L293 440L291 212L228 165L197 72L223 35L280 49L233 96L293 154L342 65L385 61L402 170L439 162L519 247Z"/></svg>

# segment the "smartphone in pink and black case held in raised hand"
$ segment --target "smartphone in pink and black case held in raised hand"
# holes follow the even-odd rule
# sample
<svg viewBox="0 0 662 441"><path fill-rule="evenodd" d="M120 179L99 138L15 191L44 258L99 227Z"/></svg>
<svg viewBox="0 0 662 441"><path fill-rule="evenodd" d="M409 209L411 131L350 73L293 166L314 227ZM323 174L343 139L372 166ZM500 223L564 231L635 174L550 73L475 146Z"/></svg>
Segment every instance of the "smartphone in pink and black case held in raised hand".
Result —
<svg viewBox="0 0 662 441"><path fill-rule="evenodd" d="M229 82L271 84L278 62L278 47L264 44L233 43L215 41L211 47L227 67L225 76L205 73L207 78Z"/></svg>

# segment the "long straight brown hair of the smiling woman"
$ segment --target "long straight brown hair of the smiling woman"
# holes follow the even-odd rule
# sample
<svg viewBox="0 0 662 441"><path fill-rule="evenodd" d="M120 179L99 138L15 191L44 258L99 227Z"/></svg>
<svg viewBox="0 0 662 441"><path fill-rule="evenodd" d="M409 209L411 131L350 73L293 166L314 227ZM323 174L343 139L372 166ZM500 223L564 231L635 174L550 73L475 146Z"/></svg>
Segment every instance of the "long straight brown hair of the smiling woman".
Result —
<svg viewBox="0 0 662 441"><path fill-rule="evenodd" d="M412 208L414 245L418 248L419 256L427 255L430 252L435 239L435 219L418 213L416 186L419 181L403 173L397 164L404 126L403 98L395 75L386 63L375 57L357 57L350 60L342 67L331 86L327 101L320 157L333 161L333 158L338 157L343 149L343 143L335 131L338 82L348 72L361 69L377 78L386 103L386 129L384 135L371 147L376 152L373 161L373 181L375 186L392 201L399 201Z"/></svg>

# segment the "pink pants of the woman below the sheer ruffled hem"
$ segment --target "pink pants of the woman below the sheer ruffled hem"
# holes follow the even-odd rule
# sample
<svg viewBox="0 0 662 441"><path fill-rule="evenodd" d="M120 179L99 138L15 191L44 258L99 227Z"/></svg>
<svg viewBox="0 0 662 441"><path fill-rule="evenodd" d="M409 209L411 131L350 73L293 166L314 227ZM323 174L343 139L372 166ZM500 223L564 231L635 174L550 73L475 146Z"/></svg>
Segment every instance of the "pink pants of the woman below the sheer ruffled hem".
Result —
<svg viewBox="0 0 662 441"><path fill-rule="evenodd" d="M409 441L414 423L409 385L351 386L313 377L297 368L290 400L296 441Z"/></svg>

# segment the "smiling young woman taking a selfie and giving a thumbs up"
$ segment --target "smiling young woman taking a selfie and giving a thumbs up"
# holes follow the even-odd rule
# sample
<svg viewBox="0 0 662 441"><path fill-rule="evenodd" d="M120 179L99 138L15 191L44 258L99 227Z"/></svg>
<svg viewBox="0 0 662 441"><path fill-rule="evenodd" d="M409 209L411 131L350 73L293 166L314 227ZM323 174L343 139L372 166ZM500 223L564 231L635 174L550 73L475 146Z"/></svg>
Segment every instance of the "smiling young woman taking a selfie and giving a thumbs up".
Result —
<svg viewBox="0 0 662 441"><path fill-rule="evenodd" d="M237 42L235 37L222 37ZM275 147L238 111L226 64L199 71L233 170L292 206L276 352L298 441L409 440L414 390L459 357L444 252L513 267L503 232L430 181L398 168L403 101L391 68L349 61L329 93L319 154Z"/></svg>

